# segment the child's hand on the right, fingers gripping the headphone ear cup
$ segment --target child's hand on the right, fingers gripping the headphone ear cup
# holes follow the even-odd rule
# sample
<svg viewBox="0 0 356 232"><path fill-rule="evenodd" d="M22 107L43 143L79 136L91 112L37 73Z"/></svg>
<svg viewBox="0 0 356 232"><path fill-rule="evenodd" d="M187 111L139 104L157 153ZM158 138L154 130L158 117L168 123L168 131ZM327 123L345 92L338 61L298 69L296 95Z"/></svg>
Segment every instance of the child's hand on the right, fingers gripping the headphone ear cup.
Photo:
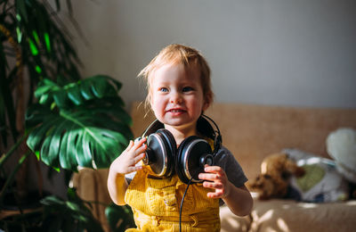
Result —
<svg viewBox="0 0 356 232"><path fill-rule="evenodd" d="M223 198L229 195L230 182L225 171L219 166L208 166L204 168L207 173L200 173L198 178L208 181L203 182L204 187L213 188L215 191L207 193L210 198Z"/></svg>

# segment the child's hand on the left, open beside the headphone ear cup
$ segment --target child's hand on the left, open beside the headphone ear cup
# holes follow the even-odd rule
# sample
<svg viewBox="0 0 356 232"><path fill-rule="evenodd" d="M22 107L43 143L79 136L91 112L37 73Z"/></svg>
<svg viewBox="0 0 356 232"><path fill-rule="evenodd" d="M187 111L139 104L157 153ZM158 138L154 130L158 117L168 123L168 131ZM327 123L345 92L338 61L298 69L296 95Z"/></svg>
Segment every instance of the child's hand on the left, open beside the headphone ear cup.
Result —
<svg viewBox="0 0 356 232"><path fill-rule="evenodd" d="M111 163L110 170L120 174L127 174L136 170L142 170L142 166L135 166L145 157L147 145L146 138L143 137L139 141L130 141L125 151Z"/></svg>

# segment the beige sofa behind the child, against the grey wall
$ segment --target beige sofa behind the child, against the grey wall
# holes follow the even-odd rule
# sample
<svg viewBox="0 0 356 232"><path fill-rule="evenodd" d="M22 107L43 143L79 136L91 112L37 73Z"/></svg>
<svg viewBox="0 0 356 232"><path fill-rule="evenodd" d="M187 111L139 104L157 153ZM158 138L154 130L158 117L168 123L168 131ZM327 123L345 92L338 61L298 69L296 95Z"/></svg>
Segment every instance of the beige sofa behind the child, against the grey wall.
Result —
<svg viewBox="0 0 356 232"><path fill-rule="evenodd" d="M206 114L218 124L223 145L235 155L247 174L255 178L263 157L284 148L328 157L328 133L341 127L356 128L356 109L281 107L253 104L213 104ZM143 106L132 105L134 136L138 137L153 116ZM86 200L109 203L107 170L81 170L73 178L78 194ZM103 207L94 215L105 225ZM255 198L250 215L239 218L223 206L222 231L355 231L356 201L344 203L297 203L291 200Z"/></svg>

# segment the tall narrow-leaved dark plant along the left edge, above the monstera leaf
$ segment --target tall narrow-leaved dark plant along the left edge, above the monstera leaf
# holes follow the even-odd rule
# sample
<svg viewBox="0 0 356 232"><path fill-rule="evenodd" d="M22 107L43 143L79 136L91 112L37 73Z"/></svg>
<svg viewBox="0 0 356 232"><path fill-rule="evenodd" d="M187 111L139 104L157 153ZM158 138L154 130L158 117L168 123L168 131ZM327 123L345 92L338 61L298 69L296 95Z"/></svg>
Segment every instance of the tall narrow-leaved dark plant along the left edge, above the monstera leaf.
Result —
<svg viewBox="0 0 356 232"><path fill-rule="evenodd" d="M77 70L80 62L70 44L70 34L57 15L61 2L55 2L56 9L47 1L0 0L1 187L4 194L9 186L15 186L11 189L17 203L28 198L26 184L31 155L25 145L24 124L28 105L34 102L34 89L44 77L59 83L80 79ZM70 9L70 1L67 3ZM8 159L19 162L15 168L4 171Z"/></svg>

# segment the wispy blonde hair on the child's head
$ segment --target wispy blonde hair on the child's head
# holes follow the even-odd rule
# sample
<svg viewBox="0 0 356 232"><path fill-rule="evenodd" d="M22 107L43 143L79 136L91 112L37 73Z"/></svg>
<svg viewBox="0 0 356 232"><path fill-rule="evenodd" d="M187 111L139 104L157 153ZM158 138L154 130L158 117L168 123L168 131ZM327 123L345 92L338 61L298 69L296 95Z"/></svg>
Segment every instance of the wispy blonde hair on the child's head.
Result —
<svg viewBox="0 0 356 232"><path fill-rule="evenodd" d="M206 59L192 47L174 44L163 48L138 75L138 77L142 77L147 83L148 94L145 100L145 106L147 108L150 108L150 83L153 74L155 70L158 70L158 68L168 63L182 64L184 69L197 65L200 70L200 83L203 88L204 100L207 104L213 102L214 93L211 87L210 68Z"/></svg>

